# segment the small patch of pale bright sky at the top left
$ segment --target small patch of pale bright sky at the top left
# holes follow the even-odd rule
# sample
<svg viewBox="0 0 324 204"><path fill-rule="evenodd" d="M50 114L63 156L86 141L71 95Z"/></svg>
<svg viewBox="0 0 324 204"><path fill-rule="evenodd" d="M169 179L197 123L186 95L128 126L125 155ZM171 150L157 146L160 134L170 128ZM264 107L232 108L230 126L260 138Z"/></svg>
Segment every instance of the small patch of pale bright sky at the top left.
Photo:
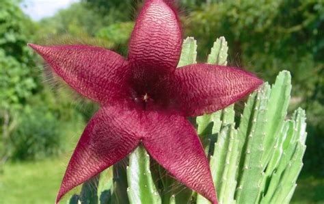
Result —
<svg viewBox="0 0 324 204"><path fill-rule="evenodd" d="M29 15L34 21L41 18L53 16L60 9L68 8L71 3L79 0L24 0L21 8L25 14Z"/></svg>

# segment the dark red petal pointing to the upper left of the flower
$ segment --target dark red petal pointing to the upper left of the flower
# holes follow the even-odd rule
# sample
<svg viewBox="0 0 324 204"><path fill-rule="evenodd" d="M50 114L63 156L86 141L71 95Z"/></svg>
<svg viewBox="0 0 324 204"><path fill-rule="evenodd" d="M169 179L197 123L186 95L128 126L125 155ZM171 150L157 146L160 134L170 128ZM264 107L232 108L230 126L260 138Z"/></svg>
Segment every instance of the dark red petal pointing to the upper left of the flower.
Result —
<svg viewBox="0 0 324 204"><path fill-rule="evenodd" d="M87 45L29 46L57 75L85 97L98 102L120 97L127 66L117 53Z"/></svg>

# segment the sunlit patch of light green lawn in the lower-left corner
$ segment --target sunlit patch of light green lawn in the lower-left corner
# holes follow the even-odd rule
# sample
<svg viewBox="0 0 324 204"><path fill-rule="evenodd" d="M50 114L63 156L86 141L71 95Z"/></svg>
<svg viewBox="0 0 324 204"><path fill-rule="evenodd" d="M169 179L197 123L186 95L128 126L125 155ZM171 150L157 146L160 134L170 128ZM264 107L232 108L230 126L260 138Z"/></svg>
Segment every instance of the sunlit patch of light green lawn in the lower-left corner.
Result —
<svg viewBox="0 0 324 204"><path fill-rule="evenodd" d="M7 163L0 175L1 202L54 203L62 179L62 158L40 162ZM0 203L1 203L0 202Z"/></svg>

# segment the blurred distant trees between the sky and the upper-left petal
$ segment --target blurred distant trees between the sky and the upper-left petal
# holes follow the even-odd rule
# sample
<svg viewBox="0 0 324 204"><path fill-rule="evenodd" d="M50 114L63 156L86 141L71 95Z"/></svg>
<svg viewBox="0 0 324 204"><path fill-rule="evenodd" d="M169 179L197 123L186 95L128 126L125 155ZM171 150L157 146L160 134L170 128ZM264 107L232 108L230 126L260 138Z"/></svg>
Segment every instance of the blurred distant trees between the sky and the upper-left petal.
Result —
<svg viewBox="0 0 324 204"><path fill-rule="evenodd" d="M112 21L113 14L106 17L90 10L88 3L73 3L40 21L37 41L40 44L91 44L116 49L126 55L133 21Z"/></svg>

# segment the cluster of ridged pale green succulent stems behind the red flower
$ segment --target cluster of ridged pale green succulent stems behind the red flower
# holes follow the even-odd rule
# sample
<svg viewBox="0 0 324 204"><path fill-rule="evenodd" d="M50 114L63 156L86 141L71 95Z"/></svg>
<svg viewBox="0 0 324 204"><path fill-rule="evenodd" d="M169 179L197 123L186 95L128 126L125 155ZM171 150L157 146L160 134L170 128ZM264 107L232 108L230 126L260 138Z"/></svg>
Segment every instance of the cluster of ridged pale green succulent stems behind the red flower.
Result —
<svg viewBox="0 0 324 204"><path fill-rule="evenodd" d="M195 40L187 38L178 66L195 63L196 48ZM208 63L226 64L227 51L225 38L218 38L208 55ZM198 134L210 160L219 203L291 201L303 166L307 133L305 112L300 108L286 120L290 94L291 75L282 71L273 86L265 83L249 96L237 129L234 105L197 118ZM115 187L110 192L122 198L126 191L129 201L123 203L209 203L187 188L170 188L177 182L165 175L161 166L158 173L153 166L156 165L150 166L144 147L139 146L129 157L126 174L122 170L118 177L114 175L124 190L116 191Z"/></svg>

